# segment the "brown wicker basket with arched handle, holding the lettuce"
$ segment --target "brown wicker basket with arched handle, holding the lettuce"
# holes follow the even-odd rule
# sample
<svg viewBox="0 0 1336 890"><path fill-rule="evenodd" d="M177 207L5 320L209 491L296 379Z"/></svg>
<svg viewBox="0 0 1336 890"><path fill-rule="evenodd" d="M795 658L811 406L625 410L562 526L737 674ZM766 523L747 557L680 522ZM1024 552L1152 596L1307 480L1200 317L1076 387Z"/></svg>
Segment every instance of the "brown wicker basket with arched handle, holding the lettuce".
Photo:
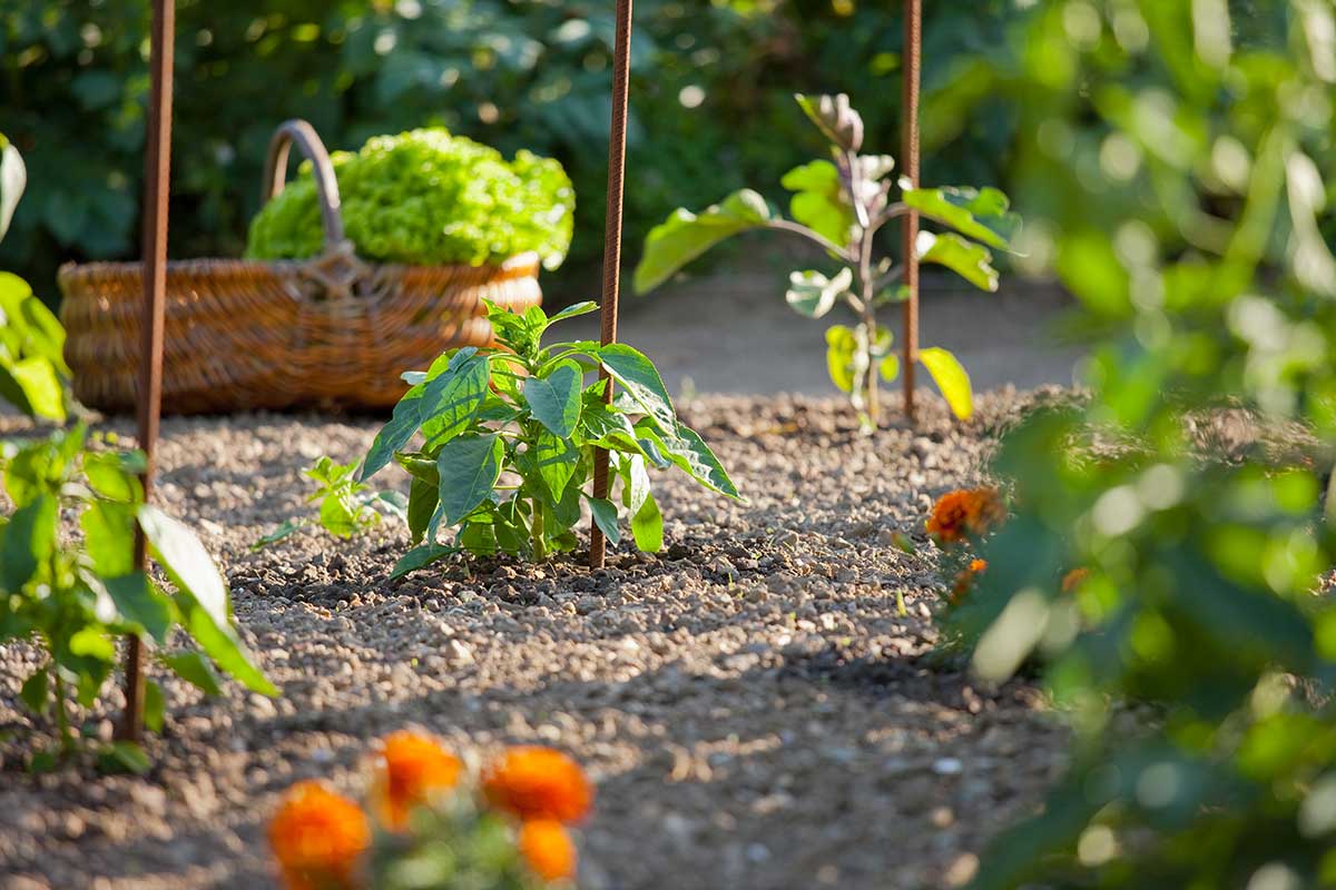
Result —
<svg viewBox="0 0 1336 890"><path fill-rule="evenodd" d="M290 120L274 133L266 199L283 189L294 141L315 168L325 252L311 260L168 263L164 412L385 408L403 395L403 371L424 370L446 348L490 342L484 299L518 311L541 300L534 254L490 266L359 260L343 236L334 167L306 121ZM60 290L75 395L102 411L132 410L142 264L68 264Z"/></svg>

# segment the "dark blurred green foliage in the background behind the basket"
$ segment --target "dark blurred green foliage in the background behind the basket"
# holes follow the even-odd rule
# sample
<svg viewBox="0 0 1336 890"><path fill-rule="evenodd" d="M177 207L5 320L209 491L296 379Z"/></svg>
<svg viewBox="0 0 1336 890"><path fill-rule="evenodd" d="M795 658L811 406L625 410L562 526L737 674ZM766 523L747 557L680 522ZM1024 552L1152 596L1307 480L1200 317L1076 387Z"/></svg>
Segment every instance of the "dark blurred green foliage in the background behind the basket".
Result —
<svg viewBox="0 0 1336 890"><path fill-rule="evenodd" d="M576 0L178 0L172 256L236 256L274 127L310 120L331 149L445 125L512 156L560 160L578 197L572 259L603 246L611 3ZM989 48L1013 0L927 4L929 87ZM0 127L28 157L29 200L0 263L49 286L64 259L138 246L148 7L0 4ZM636 4L627 240L673 207L778 183L820 148L790 95L848 92L867 139L896 145L896 0ZM1009 112L986 108L930 153L935 181L995 180ZM959 128L957 128L959 131ZM778 191L778 189L776 189ZM770 195L778 200L782 195ZM633 259L633 258L628 258Z"/></svg>

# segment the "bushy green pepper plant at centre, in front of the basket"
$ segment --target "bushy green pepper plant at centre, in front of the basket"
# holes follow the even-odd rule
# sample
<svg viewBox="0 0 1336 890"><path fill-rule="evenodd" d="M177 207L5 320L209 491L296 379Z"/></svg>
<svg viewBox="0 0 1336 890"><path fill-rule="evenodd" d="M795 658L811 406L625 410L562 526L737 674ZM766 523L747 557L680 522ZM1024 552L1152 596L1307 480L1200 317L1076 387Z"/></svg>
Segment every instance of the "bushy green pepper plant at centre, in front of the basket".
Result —
<svg viewBox="0 0 1336 890"><path fill-rule="evenodd" d="M663 546L663 514L649 467L676 466L703 487L739 492L700 435L677 419L653 363L624 344L592 340L544 347L554 323L593 312L572 306L552 318L488 304L493 347L442 354L410 384L362 463L366 480L391 460L411 476L407 523L414 547L393 576L450 554L508 554L541 562L577 546L582 506L613 544L621 519L640 550ZM603 370L620 391L604 404ZM409 448L421 432L421 443ZM593 452L611 452L619 495L595 498ZM442 528L456 528L441 543Z"/></svg>

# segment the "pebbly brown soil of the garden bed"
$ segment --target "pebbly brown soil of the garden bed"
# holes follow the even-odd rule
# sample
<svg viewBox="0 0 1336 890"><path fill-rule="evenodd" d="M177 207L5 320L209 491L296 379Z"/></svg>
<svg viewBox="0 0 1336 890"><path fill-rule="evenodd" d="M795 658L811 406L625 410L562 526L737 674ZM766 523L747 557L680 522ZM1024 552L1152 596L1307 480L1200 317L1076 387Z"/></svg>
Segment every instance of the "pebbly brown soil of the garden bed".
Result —
<svg viewBox="0 0 1336 890"><path fill-rule="evenodd" d="M168 725L151 773L32 777L49 727L17 690L37 652L0 648L0 887L274 886L263 826L283 789L322 777L358 793L369 741L405 725L469 757L540 742L582 762L597 799L581 887L957 886L1065 758L1034 689L981 689L926 658L942 584L923 520L978 479L1017 403L985 395L961 426L933 402L918 431L892 419L868 438L834 400L695 400L683 412L749 503L663 474L661 555L624 543L599 572L493 563L398 583L394 522L247 550L309 515L301 468L365 452L374 420L168 419L160 500L218 558L283 695L204 699L158 671ZM119 705L84 715L88 731L110 737Z"/></svg>

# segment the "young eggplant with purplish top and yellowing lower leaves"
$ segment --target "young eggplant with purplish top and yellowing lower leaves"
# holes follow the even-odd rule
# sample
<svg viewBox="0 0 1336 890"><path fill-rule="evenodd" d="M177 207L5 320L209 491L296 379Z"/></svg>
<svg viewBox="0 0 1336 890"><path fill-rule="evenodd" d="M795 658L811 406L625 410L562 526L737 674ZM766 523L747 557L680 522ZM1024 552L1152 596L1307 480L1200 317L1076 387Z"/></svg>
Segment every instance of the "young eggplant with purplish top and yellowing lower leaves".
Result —
<svg viewBox="0 0 1336 890"><path fill-rule="evenodd" d="M799 107L830 140L831 159L818 159L784 173L780 184L794 192L792 219L776 212L758 192L733 192L703 213L679 208L645 239L636 267L635 288L645 294L719 242L751 230L800 235L838 264L834 272L800 270L790 275L788 304L811 319L824 318L836 304L847 307L855 323L826 331L826 364L831 382L866 423L878 420L878 379L891 382L900 372L891 351L891 331L878 310L899 303L903 266L879 256L876 235L891 220L918 211L949 232L921 232L918 258L954 271L983 291L997 291L998 272L989 248L1009 250L1019 230L1006 195L995 188L914 188L892 179L895 159L864 155L863 119L848 96L795 96ZM942 347L919 350L927 368L957 416L974 411L970 378Z"/></svg>

